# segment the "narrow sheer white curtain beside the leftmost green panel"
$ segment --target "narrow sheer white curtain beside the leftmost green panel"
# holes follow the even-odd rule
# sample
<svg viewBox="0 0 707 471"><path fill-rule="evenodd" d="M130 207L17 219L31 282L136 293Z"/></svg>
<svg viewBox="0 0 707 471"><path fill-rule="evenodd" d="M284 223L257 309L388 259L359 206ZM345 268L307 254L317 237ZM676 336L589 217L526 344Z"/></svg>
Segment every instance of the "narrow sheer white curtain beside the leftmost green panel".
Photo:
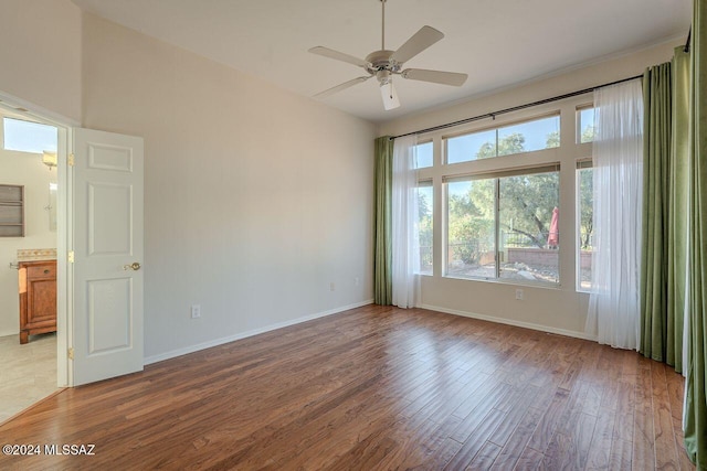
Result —
<svg viewBox="0 0 707 471"><path fill-rule="evenodd" d="M405 136L393 146L392 301L400 308L413 308L420 291L415 144L415 136Z"/></svg>

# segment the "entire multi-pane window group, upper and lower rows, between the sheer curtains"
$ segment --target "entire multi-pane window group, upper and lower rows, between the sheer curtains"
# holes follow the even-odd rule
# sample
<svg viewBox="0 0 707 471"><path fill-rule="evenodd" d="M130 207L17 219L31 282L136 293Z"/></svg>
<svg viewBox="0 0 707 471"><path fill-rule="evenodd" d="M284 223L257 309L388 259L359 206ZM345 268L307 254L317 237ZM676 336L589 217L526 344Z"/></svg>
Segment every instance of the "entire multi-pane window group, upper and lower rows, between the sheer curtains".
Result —
<svg viewBox="0 0 707 471"><path fill-rule="evenodd" d="M420 137L420 274L591 289L593 170L584 157L594 108L588 99Z"/></svg>

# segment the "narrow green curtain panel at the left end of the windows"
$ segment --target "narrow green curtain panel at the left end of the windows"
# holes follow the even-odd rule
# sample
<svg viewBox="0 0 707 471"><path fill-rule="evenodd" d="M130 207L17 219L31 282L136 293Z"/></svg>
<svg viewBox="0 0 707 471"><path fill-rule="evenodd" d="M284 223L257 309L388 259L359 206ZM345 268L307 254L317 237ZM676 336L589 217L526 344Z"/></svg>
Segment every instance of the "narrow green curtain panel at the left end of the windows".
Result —
<svg viewBox="0 0 707 471"><path fill-rule="evenodd" d="M391 202L393 140L376 139L376 235L373 253L373 301L392 303Z"/></svg>

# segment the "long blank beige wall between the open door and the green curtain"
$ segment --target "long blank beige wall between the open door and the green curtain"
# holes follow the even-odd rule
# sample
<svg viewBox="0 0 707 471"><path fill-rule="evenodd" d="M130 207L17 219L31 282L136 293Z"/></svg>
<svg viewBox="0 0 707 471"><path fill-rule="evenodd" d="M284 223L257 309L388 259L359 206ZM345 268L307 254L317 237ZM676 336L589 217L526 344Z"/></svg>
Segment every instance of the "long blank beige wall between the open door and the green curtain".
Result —
<svg viewBox="0 0 707 471"><path fill-rule="evenodd" d="M83 31L85 127L145 138L148 360L372 298L372 125L91 14Z"/></svg>

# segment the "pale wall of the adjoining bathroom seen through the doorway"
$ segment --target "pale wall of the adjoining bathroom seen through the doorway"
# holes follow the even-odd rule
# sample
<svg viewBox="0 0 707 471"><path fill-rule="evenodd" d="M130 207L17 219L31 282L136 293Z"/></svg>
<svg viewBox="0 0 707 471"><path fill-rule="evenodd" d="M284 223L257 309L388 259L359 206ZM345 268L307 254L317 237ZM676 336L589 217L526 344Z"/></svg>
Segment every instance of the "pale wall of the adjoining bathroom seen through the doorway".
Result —
<svg viewBox="0 0 707 471"><path fill-rule="evenodd" d="M24 237L0 237L0 336L20 332L17 263L19 248L55 248L56 232L49 228L49 184L56 169L42 163L42 154L4 150L0 114L0 184L24 185Z"/></svg>

